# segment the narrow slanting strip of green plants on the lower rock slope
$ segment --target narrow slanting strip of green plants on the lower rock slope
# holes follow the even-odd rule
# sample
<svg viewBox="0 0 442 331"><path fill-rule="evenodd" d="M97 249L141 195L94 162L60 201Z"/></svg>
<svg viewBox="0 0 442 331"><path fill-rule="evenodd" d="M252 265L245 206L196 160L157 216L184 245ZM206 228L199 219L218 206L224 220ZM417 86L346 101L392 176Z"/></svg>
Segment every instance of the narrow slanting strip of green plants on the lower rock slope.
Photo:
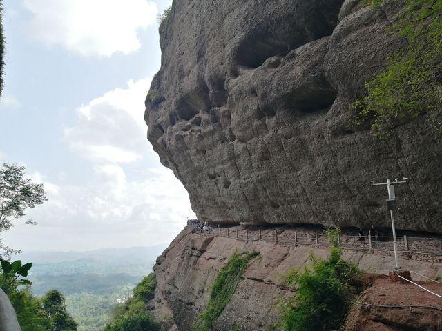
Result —
<svg viewBox="0 0 442 331"><path fill-rule="evenodd" d="M213 320L220 316L222 310L235 293L241 276L249 267L249 261L258 256L258 252L234 252L227 264L224 265L213 282L207 308L195 322L195 331L211 330Z"/></svg>

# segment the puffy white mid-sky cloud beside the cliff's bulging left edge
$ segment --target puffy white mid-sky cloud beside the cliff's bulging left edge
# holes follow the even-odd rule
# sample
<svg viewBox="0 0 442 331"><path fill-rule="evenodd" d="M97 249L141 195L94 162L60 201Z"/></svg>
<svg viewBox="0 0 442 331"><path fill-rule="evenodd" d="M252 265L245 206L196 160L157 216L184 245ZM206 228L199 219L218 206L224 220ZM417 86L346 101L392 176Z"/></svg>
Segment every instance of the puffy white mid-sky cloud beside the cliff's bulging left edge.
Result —
<svg viewBox="0 0 442 331"><path fill-rule="evenodd" d="M71 150L95 162L131 163L148 143L143 121L144 98L151 78L128 81L77 110L75 126L64 130Z"/></svg>

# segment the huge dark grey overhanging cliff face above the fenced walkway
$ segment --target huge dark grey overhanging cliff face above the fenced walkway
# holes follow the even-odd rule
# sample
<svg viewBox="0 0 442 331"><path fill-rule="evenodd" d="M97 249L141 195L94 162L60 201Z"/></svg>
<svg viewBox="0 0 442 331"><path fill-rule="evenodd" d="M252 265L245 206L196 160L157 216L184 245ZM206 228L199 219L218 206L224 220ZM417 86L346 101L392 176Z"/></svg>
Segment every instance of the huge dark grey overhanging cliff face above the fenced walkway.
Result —
<svg viewBox="0 0 442 331"><path fill-rule="evenodd" d="M442 232L441 134L427 116L379 140L349 103L403 42L398 1L180 0L160 35L148 140L215 223L387 226Z"/></svg>

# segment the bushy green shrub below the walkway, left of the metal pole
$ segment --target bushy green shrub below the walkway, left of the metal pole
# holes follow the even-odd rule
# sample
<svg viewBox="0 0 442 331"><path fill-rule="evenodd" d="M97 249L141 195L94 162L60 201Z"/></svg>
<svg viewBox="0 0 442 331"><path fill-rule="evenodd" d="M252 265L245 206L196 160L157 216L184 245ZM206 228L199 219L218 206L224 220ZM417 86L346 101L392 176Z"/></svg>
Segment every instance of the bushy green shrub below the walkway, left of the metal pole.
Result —
<svg viewBox="0 0 442 331"><path fill-rule="evenodd" d="M291 269L285 277L295 297L282 301L282 325L286 331L340 328L350 305L362 291L361 270L340 257L336 234L329 230L333 248L328 259L311 254L311 268Z"/></svg>

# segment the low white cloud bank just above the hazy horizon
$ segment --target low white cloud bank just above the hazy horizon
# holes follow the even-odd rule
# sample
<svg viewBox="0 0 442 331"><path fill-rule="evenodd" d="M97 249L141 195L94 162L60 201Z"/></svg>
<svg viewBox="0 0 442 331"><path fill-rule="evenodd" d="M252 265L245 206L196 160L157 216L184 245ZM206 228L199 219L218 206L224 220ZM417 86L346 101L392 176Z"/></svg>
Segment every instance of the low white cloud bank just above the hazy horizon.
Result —
<svg viewBox="0 0 442 331"><path fill-rule="evenodd" d="M128 180L118 165L94 170L93 182L59 185L57 194L41 174L33 174L48 190L48 201L26 214L39 225L4 232L5 242L26 250L155 245L171 241L186 217L193 217L189 195L169 169L145 168L141 180Z"/></svg>

